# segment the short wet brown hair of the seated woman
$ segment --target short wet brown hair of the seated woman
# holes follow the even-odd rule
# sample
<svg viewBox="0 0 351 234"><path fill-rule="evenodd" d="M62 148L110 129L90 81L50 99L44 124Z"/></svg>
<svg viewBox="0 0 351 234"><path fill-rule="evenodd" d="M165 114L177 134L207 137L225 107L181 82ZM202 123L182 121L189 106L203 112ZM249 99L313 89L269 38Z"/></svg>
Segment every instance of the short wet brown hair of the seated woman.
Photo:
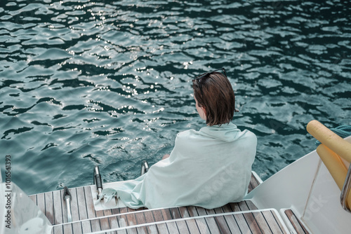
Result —
<svg viewBox="0 0 351 234"><path fill-rule="evenodd" d="M199 79L194 79L192 88L199 107L204 107L206 110L207 125L222 125L232 121L236 112L235 95L225 75L220 72L206 74Z"/></svg>

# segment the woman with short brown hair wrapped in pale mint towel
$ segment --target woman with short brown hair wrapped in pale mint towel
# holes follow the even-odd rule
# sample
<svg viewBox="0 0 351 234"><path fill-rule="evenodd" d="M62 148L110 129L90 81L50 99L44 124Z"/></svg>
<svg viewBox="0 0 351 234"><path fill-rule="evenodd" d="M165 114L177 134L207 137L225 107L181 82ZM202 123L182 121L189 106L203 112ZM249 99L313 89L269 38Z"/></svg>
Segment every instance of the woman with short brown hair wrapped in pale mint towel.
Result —
<svg viewBox="0 0 351 234"><path fill-rule="evenodd" d="M224 69L197 76L192 83L196 109L206 127L178 133L171 155L117 188L128 207L213 209L244 198L256 155L256 135L230 123L235 97Z"/></svg>

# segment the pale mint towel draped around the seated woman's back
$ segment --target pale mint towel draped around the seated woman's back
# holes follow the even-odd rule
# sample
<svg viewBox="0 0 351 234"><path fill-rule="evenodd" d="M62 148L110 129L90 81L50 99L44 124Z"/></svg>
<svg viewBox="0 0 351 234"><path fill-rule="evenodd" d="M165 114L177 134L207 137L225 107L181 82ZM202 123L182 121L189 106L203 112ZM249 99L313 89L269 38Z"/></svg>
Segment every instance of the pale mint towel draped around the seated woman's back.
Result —
<svg viewBox="0 0 351 234"><path fill-rule="evenodd" d="M232 123L180 132L171 156L152 165L133 192L149 208L239 202L255 154L256 136Z"/></svg>

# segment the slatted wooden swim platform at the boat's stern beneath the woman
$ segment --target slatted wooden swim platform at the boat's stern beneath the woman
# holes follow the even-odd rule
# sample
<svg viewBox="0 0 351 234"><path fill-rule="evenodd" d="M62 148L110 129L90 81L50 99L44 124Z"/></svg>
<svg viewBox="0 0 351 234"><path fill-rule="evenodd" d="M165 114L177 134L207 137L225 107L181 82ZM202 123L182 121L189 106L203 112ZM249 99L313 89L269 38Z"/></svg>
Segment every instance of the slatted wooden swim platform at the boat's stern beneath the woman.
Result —
<svg viewBox="0 0 351 234"><path fill-rule="evenodd" d="M251 174L248 192L260 180ZM95 211L91 186L69 188L72 222L67 223L63 190L29 195L53 224L51 233L289 233L275 209L257 209L250 200L216 209L171 207Z"/></svg>

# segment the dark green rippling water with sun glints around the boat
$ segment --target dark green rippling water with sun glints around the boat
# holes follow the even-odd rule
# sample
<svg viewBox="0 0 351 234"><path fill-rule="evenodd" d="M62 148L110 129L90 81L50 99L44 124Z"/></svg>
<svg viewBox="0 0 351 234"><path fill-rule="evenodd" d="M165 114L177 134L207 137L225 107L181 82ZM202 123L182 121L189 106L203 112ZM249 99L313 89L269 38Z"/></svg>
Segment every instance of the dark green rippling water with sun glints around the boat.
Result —
<svg viewBox="0 0 351 234"><path fill-rule="evenodd" d="M351 124L349 1L4 1L0 165L28 194L138 177L204 126L190 79L225 67L267 179ZM298 172L297 172L298 173Z"/></svg>

